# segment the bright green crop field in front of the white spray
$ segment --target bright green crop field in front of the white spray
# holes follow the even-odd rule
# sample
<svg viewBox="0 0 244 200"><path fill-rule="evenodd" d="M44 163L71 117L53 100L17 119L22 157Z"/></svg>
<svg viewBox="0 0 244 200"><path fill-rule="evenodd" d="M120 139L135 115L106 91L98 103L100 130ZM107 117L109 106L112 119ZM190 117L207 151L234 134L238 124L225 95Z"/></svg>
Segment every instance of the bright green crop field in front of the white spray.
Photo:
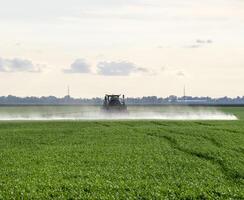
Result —
<svg viewBox="0 0 244 200"><path fill-rule="evenodd" d="M0 199L244 199L236 121L0 122Z"/></svg>

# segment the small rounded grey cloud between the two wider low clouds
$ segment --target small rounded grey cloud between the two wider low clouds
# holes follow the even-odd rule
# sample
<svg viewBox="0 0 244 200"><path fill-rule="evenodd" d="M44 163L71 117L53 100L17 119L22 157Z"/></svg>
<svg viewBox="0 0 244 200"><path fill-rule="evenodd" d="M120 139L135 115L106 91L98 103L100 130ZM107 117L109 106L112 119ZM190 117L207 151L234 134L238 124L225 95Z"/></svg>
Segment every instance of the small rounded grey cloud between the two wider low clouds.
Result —
<svg viewBox="0 0 244 200"><path fill-rule="evenodd" d="M91 66L84 59L75 60L69 69L63 70L65 73L91 73Z"/></svg>

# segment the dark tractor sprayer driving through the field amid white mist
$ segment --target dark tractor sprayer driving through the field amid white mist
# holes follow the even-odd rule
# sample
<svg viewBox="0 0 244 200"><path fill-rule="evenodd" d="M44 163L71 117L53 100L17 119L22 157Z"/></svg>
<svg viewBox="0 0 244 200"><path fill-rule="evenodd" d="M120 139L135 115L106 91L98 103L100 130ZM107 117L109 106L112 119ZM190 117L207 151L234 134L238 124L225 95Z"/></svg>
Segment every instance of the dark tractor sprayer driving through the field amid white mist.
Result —
<svg viewBox="0 0 244 200"><path fill-rule="evenodd" d="M103 110L108 112L127 112L125 105L125 95L106 94L103 101Z"/></svg>

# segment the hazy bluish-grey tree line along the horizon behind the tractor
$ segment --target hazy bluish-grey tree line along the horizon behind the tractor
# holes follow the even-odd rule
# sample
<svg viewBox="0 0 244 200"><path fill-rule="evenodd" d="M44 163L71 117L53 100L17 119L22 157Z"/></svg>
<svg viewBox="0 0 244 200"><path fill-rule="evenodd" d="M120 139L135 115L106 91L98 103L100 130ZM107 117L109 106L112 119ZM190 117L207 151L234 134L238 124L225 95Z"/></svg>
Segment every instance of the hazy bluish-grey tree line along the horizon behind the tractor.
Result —
<svg viewBox="0 0 244 200"><path fill-rule="evenodd" d="M125 99L127 105L244 105L244 96L242 97L192 97L174 95L168 97L128 97ZM103 98L73 98L65 96L58 98L55 96L47 97L17 97L17 96L2 96L0 97L1 105L102 105Z"/></svg>

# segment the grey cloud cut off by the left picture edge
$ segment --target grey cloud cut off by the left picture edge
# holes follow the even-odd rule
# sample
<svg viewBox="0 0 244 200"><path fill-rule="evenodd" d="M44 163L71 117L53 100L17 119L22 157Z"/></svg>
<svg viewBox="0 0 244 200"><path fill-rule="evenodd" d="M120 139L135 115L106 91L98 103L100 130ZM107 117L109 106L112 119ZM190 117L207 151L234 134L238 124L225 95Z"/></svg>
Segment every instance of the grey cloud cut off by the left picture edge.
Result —
<svg viewBox="0 0 244 200"><path fill-rule="evenodd" d="M0 72L41 72L43 65L21 58L0 58Z"/></svg>

